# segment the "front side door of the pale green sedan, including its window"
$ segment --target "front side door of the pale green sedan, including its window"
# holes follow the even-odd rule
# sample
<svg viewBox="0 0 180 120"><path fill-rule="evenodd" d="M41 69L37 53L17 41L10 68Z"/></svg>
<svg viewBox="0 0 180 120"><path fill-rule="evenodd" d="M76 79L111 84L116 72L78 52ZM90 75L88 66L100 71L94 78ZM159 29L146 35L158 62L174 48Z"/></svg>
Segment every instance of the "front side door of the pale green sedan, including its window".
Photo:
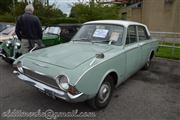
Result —
<svg viewBox="0 0 180 120"><path fill-rule="evenodd" d="M127 29L126 43L126 78L135 73L139 69L141 60L141 48L137 39L137 28L131 25Z"/></svg>

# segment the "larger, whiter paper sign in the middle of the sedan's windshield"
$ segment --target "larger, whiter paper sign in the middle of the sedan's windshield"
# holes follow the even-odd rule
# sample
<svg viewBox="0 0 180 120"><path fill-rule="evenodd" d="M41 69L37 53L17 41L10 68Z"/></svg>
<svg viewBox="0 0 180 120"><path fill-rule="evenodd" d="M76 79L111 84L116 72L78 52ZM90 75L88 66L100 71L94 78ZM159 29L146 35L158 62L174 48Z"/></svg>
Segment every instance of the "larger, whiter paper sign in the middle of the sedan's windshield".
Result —
<svg viewBox="0 0 180 120"><path fill-rule="evenodd" d="M108 32L109 31L106 29L96 29L93 34L93 37L105 38L107 36Z"/></svg>

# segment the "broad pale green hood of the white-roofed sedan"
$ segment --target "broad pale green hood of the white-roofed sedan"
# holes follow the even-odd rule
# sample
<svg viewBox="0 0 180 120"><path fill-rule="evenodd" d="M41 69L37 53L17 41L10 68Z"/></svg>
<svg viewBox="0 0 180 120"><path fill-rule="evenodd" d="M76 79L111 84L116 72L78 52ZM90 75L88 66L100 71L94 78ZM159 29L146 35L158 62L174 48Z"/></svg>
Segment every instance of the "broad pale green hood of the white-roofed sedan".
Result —
<svg viewBox="0 0 180 120"><path fill-rule="evenodd" d="M104 53L111 49L112 47L107 44L69 42L34 51L27 57L66 69L74 69L95 57L97 53Z"/></svg>

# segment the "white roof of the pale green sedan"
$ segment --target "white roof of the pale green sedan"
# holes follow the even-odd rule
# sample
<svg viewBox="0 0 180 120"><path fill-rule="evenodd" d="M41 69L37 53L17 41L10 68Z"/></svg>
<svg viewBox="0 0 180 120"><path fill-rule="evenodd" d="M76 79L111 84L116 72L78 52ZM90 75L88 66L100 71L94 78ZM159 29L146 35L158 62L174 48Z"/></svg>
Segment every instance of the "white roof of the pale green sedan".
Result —
<svg viewBox="0 0 180 120"><path fill-rule="evenodd" d="M142 25L142 26L146 26L144 24L138 23L138 22L133 22L133 21L126 21L126 20L97 20L97 21L90 21L90 22L86 22L84 24L118 24L118 25L122 25L125 27L128 27L129 25Z"/></svg>

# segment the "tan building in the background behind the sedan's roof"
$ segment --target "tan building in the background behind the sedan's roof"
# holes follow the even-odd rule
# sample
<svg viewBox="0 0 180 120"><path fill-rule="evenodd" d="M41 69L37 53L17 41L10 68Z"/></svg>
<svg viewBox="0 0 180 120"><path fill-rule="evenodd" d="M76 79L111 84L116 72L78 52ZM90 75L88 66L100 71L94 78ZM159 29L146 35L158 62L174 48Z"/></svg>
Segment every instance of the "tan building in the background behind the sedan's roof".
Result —
<svg viewBox="0 0 180 120"><path fill-rule="evenodd" d="M144 23L151 31L180 33L180 0L129 1L121 11L124 19Z"/></svg>

